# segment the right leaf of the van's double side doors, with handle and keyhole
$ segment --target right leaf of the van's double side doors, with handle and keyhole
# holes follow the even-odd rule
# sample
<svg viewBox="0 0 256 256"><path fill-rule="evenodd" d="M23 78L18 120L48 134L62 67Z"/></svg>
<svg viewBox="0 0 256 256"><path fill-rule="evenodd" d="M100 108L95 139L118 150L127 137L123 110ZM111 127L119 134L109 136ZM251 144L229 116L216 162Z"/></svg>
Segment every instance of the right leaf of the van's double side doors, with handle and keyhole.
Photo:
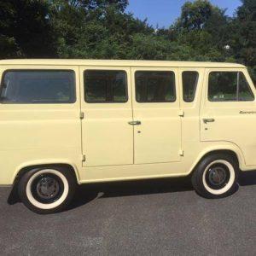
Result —
<svg viewBox="0 0 256 256"><path fill-rule="evenodd" d="M177 68L131 68L134 163L180 160L181 117Z"/></svg>

